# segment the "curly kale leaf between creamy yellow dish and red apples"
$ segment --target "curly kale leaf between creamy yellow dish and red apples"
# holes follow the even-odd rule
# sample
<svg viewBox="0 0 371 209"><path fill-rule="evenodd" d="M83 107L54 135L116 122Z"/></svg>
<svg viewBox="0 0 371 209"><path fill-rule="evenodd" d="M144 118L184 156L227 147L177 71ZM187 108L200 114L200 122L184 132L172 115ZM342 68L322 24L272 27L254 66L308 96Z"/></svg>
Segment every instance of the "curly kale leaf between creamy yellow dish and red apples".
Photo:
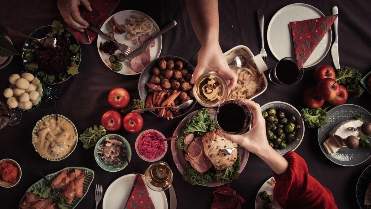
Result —
<svg viewBox="0 0 371 209"><path fill-rule="evenodd" d="M94 127L87 128L84 133L79 137L80 141L83 143L83 147L88 149L95 146L96 142L106 134L106 130L103 125L94 125Z"/></svg>

